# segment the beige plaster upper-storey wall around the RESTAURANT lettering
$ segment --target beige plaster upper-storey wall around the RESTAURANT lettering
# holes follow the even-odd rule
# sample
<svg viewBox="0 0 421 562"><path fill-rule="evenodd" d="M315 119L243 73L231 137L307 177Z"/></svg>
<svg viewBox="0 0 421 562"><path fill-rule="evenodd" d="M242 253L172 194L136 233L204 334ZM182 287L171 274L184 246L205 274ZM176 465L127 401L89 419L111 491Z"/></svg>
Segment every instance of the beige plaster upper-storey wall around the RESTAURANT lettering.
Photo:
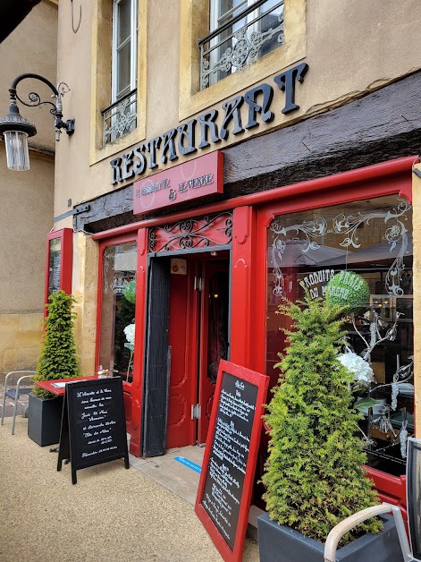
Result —
<svg viewBox="0 0 421 562"><path fill-rule="evenodd" d="M96 5L100 6L103 1L105 0L98 0ZM301 0L299 3L301 4ZM141 1L139 4L143 6L145 3ZM142 15L147 17L147 29L142 29L142 33L147 33L146 126L139 128L138 137L131 134L131 146L164 133L190 116L185 113L187 102L183 71L189 66L192 56L186 25L189 25L191 17L197 13L198 5L203 6L203 2L198 4L194 0L186 0L179 3L171 0L168 4L165 10L157 10L149 3L147 13L141 12L139 8ZM296 46L297 56L294 57L291 52L288 59L290 64L305 60L309 65L304 83L297 88L299 111L282 115L283 94L275 90L274 122L261 124L258 129L241 133L239 137L230 135L227 141L220 142L212 149L223 149L232 142L246 140L248 136L287 126L329 107L338 106L350 98L357 98L367 91L396 81L421 66L418 56L421 47L421 15L417 9L417 0L394 3L387 10L384 9L382 0L367 0L358 5L347 0L336 0L335 3L331 0L307 0L304 1L305 21L302 21L302 14L294 10L295 2L287 0L286 4L291 6L290 28L305 30L304 46ZM91 84L101 88L101 83L97 83L97 76L100 76L100 81L105 81L103 87L109 89L110 81L107 72L97 74L97 66L91 68L91 34L92 30L97 30L97 23L93 18L98 17L98 13L100 17L101 12L94 11L90 5L84 6L80 30L73 34L70 10L70 5L60 5L59 73L65 75L65 80L71 85L72 92L65 100L65 109L76 117L77 125L72 138L65 139L58 147L55 216L67 210L70 196L75 205L115 189L110 183L109 161L113 155L110 156L109 146L106 150L92 146L92 142L95 145L92 128L101 122L97 106L96 115L89 113ZM142 28L143 23L139 21L139 28ZM106 33L97 36L97 41L103 47L102 55L106 54L103 42L108 38L105 35ZM139 56L145 56L144 49ZM199 92L199 104L195 101L198 92L190 84L191 115L200 115L208 107L215 107L223 113L223 99L233 98L237 92L245 91L262 81L272 82L272 77L284 67L280 66L282 56L274 56L270 60L273 61L272 68L268 67L264 57L244 71L236 72L225 82L229 84L229 88L224 89L224 86L216 84L206 91L206 95ZM244 109L247 110L246 107ZM142 119L143 117L142 115ZM121 155L127 149L126 141L123 139L115 143L115 154ZM96 156L91 159L89 166L89 154L92 151ZM200 152L193 157L199 154ZM174 165L181 161L179 158ZM154 172L161 169L162 166ZM122 185L123 183L118 187Z"/></svg>

